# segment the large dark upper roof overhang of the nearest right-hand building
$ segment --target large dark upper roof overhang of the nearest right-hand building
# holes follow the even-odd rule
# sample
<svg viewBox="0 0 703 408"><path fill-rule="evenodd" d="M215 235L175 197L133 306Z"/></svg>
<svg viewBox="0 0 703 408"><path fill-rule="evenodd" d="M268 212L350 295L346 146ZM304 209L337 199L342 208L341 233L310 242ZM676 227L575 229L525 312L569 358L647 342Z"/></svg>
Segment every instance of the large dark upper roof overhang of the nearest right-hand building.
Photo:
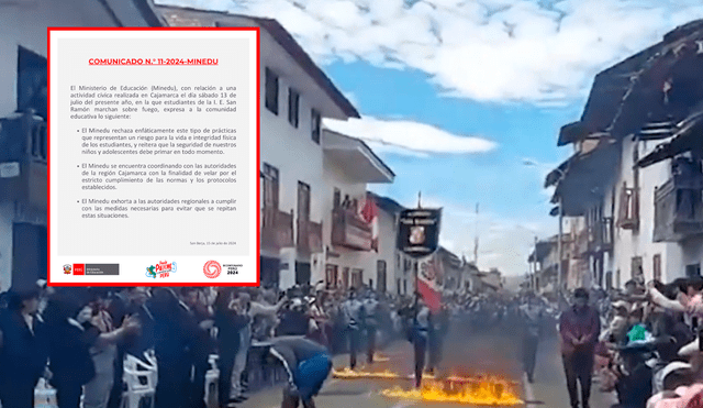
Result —
<svg viewBox="0 0 703 408"><path fill-rule="evenodd" d="M669 32L661 42L598 74L581 126L591 132L627 135L638 133L644 122L685 118L688 111L683 110L690 107L689 101L700 100L703 93L698 45L701 40L703 20L692 21ZM673 84L668 84L672 78ZM660 135L647 134L652 136ZM560 142L569 143L569 139L560 135Z"/></svg>

